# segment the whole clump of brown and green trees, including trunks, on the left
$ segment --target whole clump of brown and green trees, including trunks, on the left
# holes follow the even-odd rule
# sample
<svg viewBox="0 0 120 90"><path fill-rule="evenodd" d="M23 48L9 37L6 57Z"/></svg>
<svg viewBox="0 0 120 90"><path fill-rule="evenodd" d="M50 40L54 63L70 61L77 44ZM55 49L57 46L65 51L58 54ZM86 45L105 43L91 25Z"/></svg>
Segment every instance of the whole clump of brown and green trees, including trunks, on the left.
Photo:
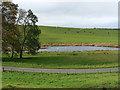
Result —
<svg viewBox="0 0 120 90"><path fill-rule="evenodd" d="M12 2L2 3L2 45L3 52L7 53L7 47L11 47L12 56L20 54L25 49L29 54L36 54L40 48L39 34L41 33L37 16L32 10L19 9Z"/></svg>

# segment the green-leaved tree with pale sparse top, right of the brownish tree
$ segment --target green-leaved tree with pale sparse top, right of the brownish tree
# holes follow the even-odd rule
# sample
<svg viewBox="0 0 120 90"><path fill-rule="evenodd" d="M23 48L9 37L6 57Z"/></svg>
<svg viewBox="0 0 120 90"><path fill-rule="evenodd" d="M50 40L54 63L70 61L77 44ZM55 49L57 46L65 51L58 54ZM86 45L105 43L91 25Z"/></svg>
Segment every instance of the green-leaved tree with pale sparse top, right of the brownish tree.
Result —
<svg viewBox="0 0 120 90"><path fill-rule="evenodd" d="M36 23L38 18L31 10L27 12L20 9L17 19L17 25L21 25L20 32L22 38L20 39L20 58L22 58L23 50L28 49L30 54L36 54L36 50L40 48L39 34L41 30Z"/></svg>

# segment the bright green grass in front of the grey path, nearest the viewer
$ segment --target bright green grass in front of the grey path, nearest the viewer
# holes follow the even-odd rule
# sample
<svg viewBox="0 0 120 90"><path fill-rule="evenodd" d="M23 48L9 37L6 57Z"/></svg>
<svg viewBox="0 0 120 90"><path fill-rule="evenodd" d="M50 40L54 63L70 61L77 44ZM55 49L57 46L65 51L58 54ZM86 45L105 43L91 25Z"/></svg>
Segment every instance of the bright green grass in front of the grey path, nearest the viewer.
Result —
<svg viewBox="0 0 120 90"><path fill-rule="evenodd" d="M58 74L5 71L3 88L117 88L118 73Z"/></svg>

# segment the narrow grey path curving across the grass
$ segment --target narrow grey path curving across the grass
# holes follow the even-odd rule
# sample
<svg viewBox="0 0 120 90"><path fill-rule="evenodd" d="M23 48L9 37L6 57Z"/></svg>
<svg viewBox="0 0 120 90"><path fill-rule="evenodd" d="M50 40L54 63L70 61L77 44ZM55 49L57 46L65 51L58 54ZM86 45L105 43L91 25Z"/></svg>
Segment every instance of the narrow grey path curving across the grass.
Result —
<svg viewBox="0 0 120 90"><path fill-rule="evenodd" d="M36 69L36 68L19 68L19 67L6 67L4 70L11 71L25 71L25 72L44 72L44 73L96 73L96 72L112 72L119 71L119 68L102 68L102 69Z"/></svg>

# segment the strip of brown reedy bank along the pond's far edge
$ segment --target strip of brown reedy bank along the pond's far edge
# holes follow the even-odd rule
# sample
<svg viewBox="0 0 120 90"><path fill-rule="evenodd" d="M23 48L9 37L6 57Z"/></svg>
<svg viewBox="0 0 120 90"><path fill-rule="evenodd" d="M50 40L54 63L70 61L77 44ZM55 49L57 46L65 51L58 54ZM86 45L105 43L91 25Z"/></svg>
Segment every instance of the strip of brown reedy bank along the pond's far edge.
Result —
<svg viewBox="0 0 120 90"><path fill-rule="evenodd" d="M42 47L46 46L97 46L97 47L120 47L120 44L114 44L114 43L42 43Z"/></svg>

